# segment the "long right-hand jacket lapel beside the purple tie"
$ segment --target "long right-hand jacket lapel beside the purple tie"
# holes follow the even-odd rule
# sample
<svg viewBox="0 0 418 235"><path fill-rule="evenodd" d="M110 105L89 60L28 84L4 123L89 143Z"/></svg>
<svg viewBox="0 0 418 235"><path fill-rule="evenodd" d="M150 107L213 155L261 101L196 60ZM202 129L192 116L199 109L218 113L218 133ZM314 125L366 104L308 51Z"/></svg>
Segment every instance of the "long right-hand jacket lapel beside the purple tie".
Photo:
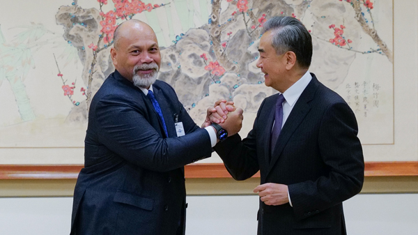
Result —
<svg viewBox="0 0 418 235"><path fill-rule="evenodd" d="M268 166L266 176L270 173L275 162L277 162L277 160L281 156L281 152L284 150L284 147L288 143L288 140L292 137L293 132L295 132L297 127L300 125L300 123L302 123L304 118L307 116L309 110L311 109L309 101L314 99L315 91L318 86L318 80L316 79L315 75L311 75L311 82L309 82L308 86L304 89L299 99L297 99L295 107L293 107L291 114L288 116L286 123L284 123L284 126L281 129L279 138L276 143L276 147L274 148L272 154L272 160L270 162L270 165Z"/></svg>

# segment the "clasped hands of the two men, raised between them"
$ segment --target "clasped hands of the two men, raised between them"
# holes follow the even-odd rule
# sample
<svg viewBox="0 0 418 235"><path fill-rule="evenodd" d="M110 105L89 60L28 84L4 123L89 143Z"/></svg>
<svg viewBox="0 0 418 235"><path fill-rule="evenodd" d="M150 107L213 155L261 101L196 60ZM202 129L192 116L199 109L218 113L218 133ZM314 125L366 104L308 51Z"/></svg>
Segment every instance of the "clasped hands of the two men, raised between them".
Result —
<svg viewBox="0 0 418 235"><path fill-rule="evenodd" d="M235 135L242 127L242 112L241 108L233 106L232 101L218 100L213 107L208 107L206 119L201 127L206 128L212 123L217 123L228 132L228 136Z"/></svg>

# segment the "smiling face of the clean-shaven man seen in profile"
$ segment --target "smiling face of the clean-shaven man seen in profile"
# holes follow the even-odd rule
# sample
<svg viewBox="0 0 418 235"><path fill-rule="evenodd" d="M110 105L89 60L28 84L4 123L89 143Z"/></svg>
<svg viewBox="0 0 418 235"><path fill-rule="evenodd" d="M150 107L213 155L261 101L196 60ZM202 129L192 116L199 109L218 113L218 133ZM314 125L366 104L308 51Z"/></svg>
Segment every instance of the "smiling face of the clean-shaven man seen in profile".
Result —
<svg viewBox="0 0 418 235"><path fill-rule="evenodd" d="M257 67L261 68L264 75L264 82L266 86L271 86L277 91L281 91L286 73L286 53L277 54L272 46L272 31L267 31L260 38L260 45L258 52L260 58L257 61Z"/></svg>

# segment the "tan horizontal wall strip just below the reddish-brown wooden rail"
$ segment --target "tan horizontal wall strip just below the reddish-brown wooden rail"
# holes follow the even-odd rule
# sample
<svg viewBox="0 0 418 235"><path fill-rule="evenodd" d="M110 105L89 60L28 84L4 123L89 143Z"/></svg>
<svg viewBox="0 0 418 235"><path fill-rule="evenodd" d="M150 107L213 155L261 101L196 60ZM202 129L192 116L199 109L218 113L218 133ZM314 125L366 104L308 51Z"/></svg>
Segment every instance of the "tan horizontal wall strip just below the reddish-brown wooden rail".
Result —
<svg viewBox="0 0 418 235"><path fill-rule="evenodd" d="M187 195L253 195L259 178L186 179ZM72 197L75 179L0 180L0 197ZM418 192L418 176L366 177L361 193Z"/></svg>

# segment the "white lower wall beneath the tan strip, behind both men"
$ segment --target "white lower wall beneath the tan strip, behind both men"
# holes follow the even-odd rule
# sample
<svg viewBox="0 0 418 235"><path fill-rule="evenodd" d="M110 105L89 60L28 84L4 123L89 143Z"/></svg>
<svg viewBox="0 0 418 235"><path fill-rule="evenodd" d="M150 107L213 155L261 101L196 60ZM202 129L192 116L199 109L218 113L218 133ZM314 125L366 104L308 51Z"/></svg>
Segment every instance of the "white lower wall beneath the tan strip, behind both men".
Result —
<svg viewBox="0 0 418 235"><path fill-rule="evenodd" d="M255 235L258 197L189 196L187 235ZM344 202L348 234L416 235L418 194L360 194ZM0 235L70 232L72 197L0 198Z"/></svg>

